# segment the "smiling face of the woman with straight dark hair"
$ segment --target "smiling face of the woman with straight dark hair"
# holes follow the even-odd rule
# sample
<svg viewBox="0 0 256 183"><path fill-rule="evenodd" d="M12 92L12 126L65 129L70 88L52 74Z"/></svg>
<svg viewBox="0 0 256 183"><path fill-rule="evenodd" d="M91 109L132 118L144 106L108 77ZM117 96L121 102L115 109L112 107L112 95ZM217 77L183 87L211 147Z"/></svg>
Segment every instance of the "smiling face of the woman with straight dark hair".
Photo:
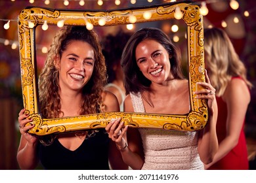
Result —
<svg viewBox="0 0 256 183"><path fill-rule="evenodd" d="M152 39L140 42L135 50L135 57L140 71L148 80L161 84L168 78L173 78L169 54L159 42Z"/></svg>

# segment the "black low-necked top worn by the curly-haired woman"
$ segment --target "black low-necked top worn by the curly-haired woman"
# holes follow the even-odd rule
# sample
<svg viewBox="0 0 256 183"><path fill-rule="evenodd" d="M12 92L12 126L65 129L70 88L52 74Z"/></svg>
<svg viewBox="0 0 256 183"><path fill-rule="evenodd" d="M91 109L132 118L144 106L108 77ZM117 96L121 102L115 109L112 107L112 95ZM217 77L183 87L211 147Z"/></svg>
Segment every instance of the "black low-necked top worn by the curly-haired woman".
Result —
<svg viewBox="0 0 256 183"><path fill-rule="evenodd" d="M50 170L109 170L108 144L105 129L99 129L95 136L85 139L74 151L62 146L56 138L49 146L39 143L39 159L43 167Z"/></svg>

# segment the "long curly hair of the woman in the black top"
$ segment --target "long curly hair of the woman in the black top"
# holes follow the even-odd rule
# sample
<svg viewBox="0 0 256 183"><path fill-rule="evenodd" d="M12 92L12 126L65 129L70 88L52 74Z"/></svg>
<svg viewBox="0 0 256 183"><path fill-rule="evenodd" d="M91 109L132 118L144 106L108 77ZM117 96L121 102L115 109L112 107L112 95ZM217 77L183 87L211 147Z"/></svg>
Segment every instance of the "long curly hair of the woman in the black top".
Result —
<svg viewBox="0 0 256 183"><path fill-rule="evenodd" d="M54 59L61 58L70 41L84 41L91 44L95 54L93 75L82 90L80 115L95 114L104 111L101 93L106 84L106 64L102 55L102 48L95 31L86 27L68 25L60 29L53 38L41 75L39 75L39 103L43 118L59 118L64 115L60 110L60 86L58 69L54 66Z"/></svg>

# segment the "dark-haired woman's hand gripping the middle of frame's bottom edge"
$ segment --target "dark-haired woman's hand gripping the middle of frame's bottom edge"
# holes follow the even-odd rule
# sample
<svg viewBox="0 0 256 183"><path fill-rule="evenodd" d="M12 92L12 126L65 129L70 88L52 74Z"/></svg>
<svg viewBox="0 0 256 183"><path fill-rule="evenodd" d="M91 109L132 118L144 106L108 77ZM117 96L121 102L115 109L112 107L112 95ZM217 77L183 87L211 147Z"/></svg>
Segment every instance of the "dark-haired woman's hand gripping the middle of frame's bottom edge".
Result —
<svg viewBox="0 0 256 183"><path fill-rule="evenodd" d="M128 125L125 126L123 122L120 122L120 120L121 118L112 119L105 127L108 137L112 139L112 141L116 142L119 150L127 145L125 139L128 129Z"/></svg>

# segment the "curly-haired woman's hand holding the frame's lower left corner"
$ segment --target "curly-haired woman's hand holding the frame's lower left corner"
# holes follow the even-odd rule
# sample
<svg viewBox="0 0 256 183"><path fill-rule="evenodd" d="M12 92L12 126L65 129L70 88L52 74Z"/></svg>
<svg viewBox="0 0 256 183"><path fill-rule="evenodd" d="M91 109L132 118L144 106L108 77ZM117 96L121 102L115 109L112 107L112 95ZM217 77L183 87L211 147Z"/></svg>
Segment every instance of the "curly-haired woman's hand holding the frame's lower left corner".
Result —
<svg viewBox="0 0 256 183"><path fill-rule="evenodd" d="M25 111L26 109L23 108L18 114L18 126L20 129L20 133L23 135L23 137L25 137L28 142L33 144L37 141L38 138L28 133L28 130L32 129L32 127L34 127L35 125L31 124L33 120L31 118L28 118L28 114L26 114ZM28 123L30 123L30 125L26 125Z"/></svg>

